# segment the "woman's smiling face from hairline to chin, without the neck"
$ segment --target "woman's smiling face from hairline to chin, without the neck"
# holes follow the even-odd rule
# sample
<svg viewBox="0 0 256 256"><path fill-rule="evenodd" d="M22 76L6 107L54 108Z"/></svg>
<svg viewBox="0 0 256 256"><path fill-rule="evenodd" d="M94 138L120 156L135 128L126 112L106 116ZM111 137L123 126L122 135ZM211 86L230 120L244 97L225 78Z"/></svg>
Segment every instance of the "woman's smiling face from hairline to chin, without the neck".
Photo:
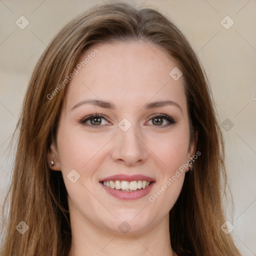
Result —
<svg viewBox="0 0 256 256"><path fill-rule="evenodd" d="M167 221L188 170L181 166L194 154L183 77L169 75L174 67L144 42L97 44L80 56L53 146L70 214L80 221L118 233Z"/></svg>

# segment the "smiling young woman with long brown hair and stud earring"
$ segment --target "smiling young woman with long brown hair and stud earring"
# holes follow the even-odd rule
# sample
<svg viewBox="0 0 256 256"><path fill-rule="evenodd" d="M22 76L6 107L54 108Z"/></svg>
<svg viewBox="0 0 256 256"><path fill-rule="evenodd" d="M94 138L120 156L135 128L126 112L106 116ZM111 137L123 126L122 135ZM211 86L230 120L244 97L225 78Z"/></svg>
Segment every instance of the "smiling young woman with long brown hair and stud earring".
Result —
<svg viewBox="0 0 256 256"><path fill-rule="evenodd" d="M206 76L159 12L108 3L68 23L18 124L2 256L241 255L220 228L223 141Z"/></svg>

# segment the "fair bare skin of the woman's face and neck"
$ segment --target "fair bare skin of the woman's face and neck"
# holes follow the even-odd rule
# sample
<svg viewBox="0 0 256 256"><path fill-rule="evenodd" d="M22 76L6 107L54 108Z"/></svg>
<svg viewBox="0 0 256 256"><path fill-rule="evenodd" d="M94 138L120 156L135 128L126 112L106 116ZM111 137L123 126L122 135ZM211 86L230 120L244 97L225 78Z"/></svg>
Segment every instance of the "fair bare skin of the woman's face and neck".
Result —
<svg viewBox="0 0 256 256"><path fill-rule="evenodd" d="M150 46L150 47L149 47ZM99 52L69 82L60 113L56 145L48 152L54 170L61 170L68 192L72 230L69 256L81 255L175 255L170 246L168 213L183 185L185 171L150 202L148 197L195 152L189 146L189 126L183 77L174 80L169 72L173 59L151 43L118 42L91 46L80 59L95 48ZM78 63L77 62L77 63ZM95 98L107 100L116 109L78 102ZM166 105L144 109L146 103L172 100ZM72 109L72 110L71 110ZM99 122L84 117L100 113ZM152 114L166 114L176 123L157 125ZM118 123L126 118L127 131ZM94 119L95 120L95 119ZM93 126L94 125L94 126ZM97 128L93 128L93 127ZM72 183L67 174L75 169L80 177ZM121 200L108 194L99 180L109 175L143 174L156 182L150 193L136 200ZM127 233L118 226L126 221ZM85 253L86 252L86 253Z"/></svg>

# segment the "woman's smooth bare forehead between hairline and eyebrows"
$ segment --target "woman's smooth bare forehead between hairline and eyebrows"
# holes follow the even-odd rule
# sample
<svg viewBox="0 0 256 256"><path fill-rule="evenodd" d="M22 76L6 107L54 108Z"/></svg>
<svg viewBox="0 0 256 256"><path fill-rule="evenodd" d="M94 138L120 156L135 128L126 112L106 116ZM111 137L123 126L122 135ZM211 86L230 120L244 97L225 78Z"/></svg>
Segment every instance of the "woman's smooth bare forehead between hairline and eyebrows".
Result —
<svg viewBox="0 0 256 256"><path fill-rule="evenodd" d="M72 104L93 97L127 107L134 100L144 104L150 99L176 99L185 104L183 77L174 80L169 75L176 66L150 42L94 44L79 57L65 101Z"/></svg>

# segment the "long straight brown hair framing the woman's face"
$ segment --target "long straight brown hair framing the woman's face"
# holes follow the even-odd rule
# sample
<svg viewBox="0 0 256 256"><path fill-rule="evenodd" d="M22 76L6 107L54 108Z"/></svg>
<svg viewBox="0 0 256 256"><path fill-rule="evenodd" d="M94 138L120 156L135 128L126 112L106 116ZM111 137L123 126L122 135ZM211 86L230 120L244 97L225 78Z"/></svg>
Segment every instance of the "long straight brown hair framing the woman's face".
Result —
<svg viewBox="0 0 256 256"><path fill-rule="evenodd" d="M1 256L67 255L71 243L67 193L61 171L52 171L46 161L67 85L55 96L49 94L89 46L126 40L152 43L175 59L184 78L190 141L195 139L195 130L199 132L196 150L201 156L194 161L192 173L185 174L169 212L173 251L178 255L241 255L231 234L220 228L226 220L221 200L226 187L224 147L205 72L187 39L167 17L152 8L115 2L96 5L64 26L34 68L16 127L19 137L4 200L4 208L9 202L9 215ZM20 221L29 227L23 234L16 230Z"/></svg>

